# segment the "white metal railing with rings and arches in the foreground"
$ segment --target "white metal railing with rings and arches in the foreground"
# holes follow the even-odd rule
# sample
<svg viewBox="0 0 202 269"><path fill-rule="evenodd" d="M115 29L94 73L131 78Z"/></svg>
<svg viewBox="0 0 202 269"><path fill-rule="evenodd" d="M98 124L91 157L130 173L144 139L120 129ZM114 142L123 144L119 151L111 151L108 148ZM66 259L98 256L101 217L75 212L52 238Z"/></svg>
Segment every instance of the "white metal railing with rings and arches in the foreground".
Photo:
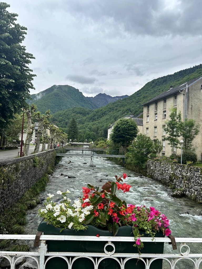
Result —
<svg viewBox="0 0 202 269"><path fill-rule="evenodd" d="M0 235L0 240L8 240L8 239L16 239L16 240L33 240L35 239L35 235ZM82 240L82 241L105 241L106 245L110 245L113 247L113 251L108 252L103 249L102 253L78 253L78 252L47 252L46 240ZM151 238L141 238L142 242L150 242ZM53 257L60 257L64 259L67 263L68 268L72 268L72 264L75 260L79 258L87 258L90 259L93 263L95 269L98 268L100 261L103 259L114 259L117 261L121 269L125 268L125 264L128 260L134 259L134 264L138 259L142 260L145 265L145 269L149 269L152 262L156 259L163 259L163 268L176 269L183 265L180 268L194 268L200 269L202 268L202 238L175 238L177 243L177 250L173 251L172 246L170 251L171 253L164 254L138 254L133 253L116 253L115 247L113 246L113 242L124 241L124 242L134 242L133 237L114 237L114 236L67 236L67 235L41 235L40 239L38 239L39 247L36 247L35 251L30 252L9 252L9 251L0 251L0 257L4 257L10 263L11 269L15 269L16 263L18 260L23 257L25 259L29 258L36 262L36 267L38 269L44 269L46 267L46 263L48 260ZM37 242L37 243L38 243ZM171 243L170 238L154 238L154 242L165 242ZM198 253L191 253L191 246L187 245L187 243L199 244ZM165 250L164 252L168 252ZM71 256L72 258L68 258ZM96 257L96 258L95 258ZM143 259L144 258L144 259ZM184 266L184 263L186 264ZM191 263L191 265L187 265L187 263ZM65 267L66 268L66 267ZM63 268L60 268L63 269Z"/></svg>

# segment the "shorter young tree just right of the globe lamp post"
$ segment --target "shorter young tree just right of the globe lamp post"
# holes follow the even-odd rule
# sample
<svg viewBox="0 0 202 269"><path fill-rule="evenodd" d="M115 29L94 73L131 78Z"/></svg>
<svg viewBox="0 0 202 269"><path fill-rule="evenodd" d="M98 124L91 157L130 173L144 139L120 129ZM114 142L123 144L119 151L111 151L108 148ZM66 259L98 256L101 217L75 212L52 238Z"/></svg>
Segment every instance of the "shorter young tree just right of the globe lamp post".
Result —
<svg viewBox="0 0 202 269"><path fill-rule="evenodd" d="M182 123L182 132L181 135L183 137L183 141L184 141L184 149L188 150L188 149L192 149L195 150L195 148L193 148L192 142L194 140L194 138L198 135L199 131L200 131L200 123L194 121L193 119L185 119L184 122Z"/></svg>

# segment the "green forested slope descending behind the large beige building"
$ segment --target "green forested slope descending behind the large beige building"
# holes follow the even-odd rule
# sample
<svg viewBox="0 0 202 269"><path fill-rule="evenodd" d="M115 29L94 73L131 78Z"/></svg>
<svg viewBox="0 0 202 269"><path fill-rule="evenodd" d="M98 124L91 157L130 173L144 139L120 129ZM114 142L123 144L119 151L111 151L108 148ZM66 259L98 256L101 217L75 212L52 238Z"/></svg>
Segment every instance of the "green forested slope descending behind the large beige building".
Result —
<svg viewBox="0 0 202 269"><path fill-rule="evenodd" d="M114 123L125 115L140 114L143 112L142 104L169 90L170 85L176 87L200 75L202 75L202 64L181 70L173 75L154 79L129 97L109 103L101 108L90 110L77 107L58 111L52 115L51 121L58 127L64 128L64 131L67 131L67 125L74 117L78 124L80 141L85 139L95 140L98 137L106 138L107 127L110 123Z"/></svg>

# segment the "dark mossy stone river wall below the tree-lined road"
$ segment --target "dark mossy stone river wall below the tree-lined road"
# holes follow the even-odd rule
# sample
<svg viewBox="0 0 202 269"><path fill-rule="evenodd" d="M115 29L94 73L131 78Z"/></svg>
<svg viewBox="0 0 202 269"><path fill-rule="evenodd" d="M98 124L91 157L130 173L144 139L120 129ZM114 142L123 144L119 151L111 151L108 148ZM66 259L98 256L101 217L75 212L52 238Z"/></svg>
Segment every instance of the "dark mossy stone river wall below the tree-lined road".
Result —
<svg viewBox="0 0 202 269"><path fill-rule="evenodd" d="M0 213L53 168L55 158L55 150L48 150L0 162Z"/></svg>

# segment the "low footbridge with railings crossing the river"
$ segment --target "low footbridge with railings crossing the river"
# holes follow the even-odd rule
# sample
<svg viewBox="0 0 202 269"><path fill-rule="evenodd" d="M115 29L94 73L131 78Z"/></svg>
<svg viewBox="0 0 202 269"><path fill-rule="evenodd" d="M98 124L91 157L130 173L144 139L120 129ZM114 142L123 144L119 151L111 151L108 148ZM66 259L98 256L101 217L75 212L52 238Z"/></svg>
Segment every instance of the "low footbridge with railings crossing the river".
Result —
<svg viewBox="0 0 202 269"><path fill-rule="evenodd" d="M100 156L100 157L114 157L114 158L125 158L125 155L115 150L106 150L103 148L88 148L88 147L65 147L56 148L57 156L65 155L89 155L89 156ZM74 151L74 153L72 152Z"/></svg>

